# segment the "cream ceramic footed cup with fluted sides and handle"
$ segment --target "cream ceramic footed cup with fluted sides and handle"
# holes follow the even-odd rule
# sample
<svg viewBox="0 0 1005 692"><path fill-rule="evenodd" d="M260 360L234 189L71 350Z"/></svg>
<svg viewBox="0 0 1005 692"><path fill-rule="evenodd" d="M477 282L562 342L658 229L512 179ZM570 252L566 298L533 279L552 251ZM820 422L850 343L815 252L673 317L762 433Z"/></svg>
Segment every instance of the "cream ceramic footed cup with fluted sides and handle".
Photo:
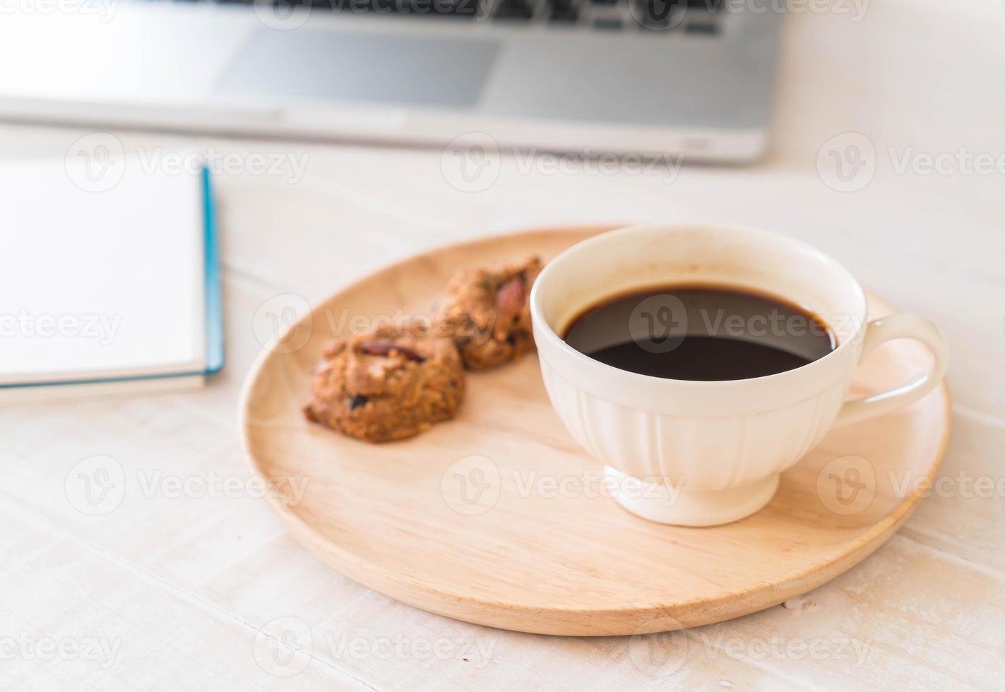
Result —
<svg viewBox="0 0 1005 692"><path fill-rule="evenodd" d="M619 370L562 338L605 298L673 284L778 296L822 317L837 347L776 375L698 382ZM617 501L663 523L707 526L756 512L775 494L779 474L832 426L910 404L946 372L946 344L932 321L914 314L867 321L865 294L844 267L802 242L747 228L645 224L589 238L548 263L531 292L531 314L559 418L606 464ZM932 369L844 401L858 361L903 337L932 351Z"/></svg>

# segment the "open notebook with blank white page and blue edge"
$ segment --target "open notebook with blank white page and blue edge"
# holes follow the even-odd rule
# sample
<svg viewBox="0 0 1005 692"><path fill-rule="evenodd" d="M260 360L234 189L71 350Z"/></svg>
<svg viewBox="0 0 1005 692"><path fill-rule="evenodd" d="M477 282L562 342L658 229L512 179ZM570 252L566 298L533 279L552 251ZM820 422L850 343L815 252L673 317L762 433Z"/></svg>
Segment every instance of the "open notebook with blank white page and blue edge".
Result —
<svg viewBox="0 0 1005 692"><path fill-rule="evenodd" d="M123 161L111 186L91 161L0 165L0 400L191 389L223 367L209 172Z"/></svg>

